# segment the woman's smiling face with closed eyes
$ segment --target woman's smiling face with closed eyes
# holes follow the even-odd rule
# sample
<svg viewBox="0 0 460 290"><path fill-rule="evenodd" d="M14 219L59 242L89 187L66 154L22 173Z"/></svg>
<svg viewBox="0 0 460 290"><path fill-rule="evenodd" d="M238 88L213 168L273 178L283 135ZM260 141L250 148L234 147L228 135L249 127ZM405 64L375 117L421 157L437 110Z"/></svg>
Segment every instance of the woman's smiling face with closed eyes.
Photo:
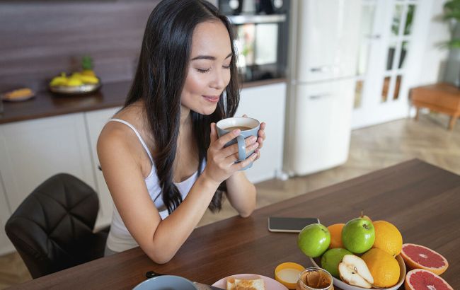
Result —
<svg viewBox="0 0 460 290"><path fill-rule="evenodd" d="M210 115L230 81L231 42L220 21L197 25L185 85L180 95L183 107Z"/></svg>

